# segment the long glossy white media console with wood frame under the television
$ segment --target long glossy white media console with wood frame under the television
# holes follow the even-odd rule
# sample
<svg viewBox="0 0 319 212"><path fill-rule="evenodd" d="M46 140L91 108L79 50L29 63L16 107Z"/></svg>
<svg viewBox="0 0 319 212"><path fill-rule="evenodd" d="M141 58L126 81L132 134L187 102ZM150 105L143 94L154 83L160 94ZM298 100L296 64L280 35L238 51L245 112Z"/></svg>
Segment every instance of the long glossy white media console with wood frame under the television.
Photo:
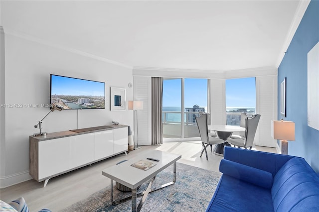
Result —
<svg viewBox="0 0 319 212"><path fill-rule="evenodd" d="M44 182L128 151L128 126L108 125L29 136L29 174Z"/></svg>

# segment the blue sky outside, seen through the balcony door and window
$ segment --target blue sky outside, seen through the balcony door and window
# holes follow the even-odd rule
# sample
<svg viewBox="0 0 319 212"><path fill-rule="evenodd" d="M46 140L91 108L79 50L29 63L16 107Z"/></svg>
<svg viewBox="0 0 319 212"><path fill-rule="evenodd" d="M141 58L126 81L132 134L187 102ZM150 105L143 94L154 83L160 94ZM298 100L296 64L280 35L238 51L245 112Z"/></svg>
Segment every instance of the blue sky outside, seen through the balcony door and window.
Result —
<svg viewBox="0 0 319 212"><path fill-rule="evenodd" d="M180 106L181 79L164 80L163 106ZM207 105L207 80L185 79L185 107ZM227 107L255 107L255 78L226 80Z"/></svg>

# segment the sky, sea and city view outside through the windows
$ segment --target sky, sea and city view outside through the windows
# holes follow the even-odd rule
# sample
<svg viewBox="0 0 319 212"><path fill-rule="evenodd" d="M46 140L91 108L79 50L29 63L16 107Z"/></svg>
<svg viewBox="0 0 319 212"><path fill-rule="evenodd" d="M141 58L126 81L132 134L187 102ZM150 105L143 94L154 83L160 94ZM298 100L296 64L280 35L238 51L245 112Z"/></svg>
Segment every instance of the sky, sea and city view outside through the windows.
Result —
<svg viewBox="0 0 319 212"><path fill-rule="evenodd" d="M165 123L180 123L181 121L181 84L181 79L163 81L162 118ZM226 80L225 96L226 122L229 125L239 125L241 112L255 113L255 78ZM185 123L196 124L197 112L203 111L203 109L199 110L198 106L207 112L207 79L184 79Z"/></svg>

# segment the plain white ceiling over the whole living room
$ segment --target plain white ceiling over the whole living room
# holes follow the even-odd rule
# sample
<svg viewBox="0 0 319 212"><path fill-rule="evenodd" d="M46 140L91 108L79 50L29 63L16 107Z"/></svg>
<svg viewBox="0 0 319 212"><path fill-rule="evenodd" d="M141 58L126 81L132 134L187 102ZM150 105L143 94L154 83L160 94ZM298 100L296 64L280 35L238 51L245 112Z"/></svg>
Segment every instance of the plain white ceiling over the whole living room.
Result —
<svg viewBox="0 0 319 212"><path fill-rule="evenodd" d="M308 3L1 0L0 7L5 33L132 68L228 71L278 67Z"/></svg>

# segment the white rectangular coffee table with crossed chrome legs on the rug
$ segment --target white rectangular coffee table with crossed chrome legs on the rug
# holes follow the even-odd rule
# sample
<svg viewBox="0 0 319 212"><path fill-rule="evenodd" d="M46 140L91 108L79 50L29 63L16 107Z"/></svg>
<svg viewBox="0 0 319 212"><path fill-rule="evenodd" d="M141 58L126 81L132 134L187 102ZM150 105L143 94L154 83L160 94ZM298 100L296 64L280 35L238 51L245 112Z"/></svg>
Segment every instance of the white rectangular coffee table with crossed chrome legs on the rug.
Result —
<svg viewBox="0 0 319 212"><path fill-rule="evenodd" d="M147 160L147 158L156 158L160 161ZM132 212L140 211L145 203L147 196L150 192L154 192L166 186L172 185L176 182L176 161L181 158L181 155L163 152L159 150L152 150L150 152L138 155L131 158L128 161L120 163L118 165L109 167L102 171L102 175L111 179L111 202L113 205L118 205L125 201L132 199ZM147 160L156 163L156 166L150 168L147 171L131 166L131 164L138 162L139 160ZM173 164L173 180L164 185L156 188L151 188L153 181L158 173ZM146 191L137 194L137 188L148 180L151 180ZM124 186L132 189L132 196L121 200L113 201L113 180L123 184ZM137 197L143 195L140 204L137 206Z"/></svg>

